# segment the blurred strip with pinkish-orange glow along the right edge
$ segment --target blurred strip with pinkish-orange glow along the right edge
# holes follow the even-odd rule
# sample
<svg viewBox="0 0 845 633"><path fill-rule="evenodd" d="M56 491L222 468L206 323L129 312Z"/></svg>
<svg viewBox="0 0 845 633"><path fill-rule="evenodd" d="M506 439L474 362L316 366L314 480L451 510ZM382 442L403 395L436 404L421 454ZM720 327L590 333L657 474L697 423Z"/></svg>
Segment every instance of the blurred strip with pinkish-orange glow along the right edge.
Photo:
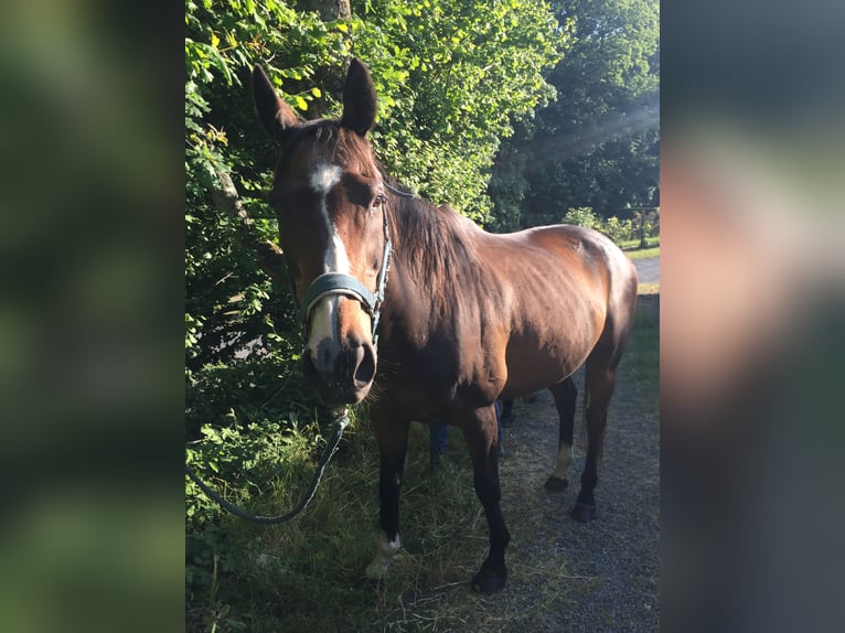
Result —
<svg viewBox="0 0 845 633"><path fill-rule="evenodd" d="M664 631L842 631L845 6L666 2Z"/></svg>

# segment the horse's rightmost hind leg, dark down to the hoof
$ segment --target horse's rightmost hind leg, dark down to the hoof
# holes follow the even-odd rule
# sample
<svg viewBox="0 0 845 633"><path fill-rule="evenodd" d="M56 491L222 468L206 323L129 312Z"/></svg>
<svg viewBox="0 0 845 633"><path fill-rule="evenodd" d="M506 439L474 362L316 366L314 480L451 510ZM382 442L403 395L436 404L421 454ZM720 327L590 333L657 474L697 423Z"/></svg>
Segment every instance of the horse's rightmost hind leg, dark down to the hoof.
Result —
<svg viewBox="0 0 845 633"><path fill-rule="evenodd" d="M605 427L608 419L608 404L616 385L616 363L602 356L587 360L585 377L585 409L587 426L587 458L581 473L581 490L571 511L575 521L587 523L596 518L593 491L599 481L599 461L605 442Z"/></svg>

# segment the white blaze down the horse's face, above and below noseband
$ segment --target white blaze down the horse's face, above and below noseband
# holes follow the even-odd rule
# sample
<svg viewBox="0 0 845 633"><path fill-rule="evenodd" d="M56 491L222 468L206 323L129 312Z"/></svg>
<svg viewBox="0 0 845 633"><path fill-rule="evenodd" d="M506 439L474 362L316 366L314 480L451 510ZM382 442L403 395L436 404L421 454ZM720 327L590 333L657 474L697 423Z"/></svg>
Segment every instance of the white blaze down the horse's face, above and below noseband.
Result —
<svg viewBox="0 0 845 633"><path fill-rule="evenodd" d="M317 168L314 173L311 174L310 184L321 196L320 212L329 236L325 254L323 255L323 272L344 272L349 275L350 262L349 257L346 256L346 247L343 245L340 235L338 235L338 227L329 216L329 207L327 206L329 193L332 187L340 182L343 170L338 165L321 164ZM320 341L332 339L338 331L339 301L340 298L336 294L330 294L329 297L321 299L320 302L314 305L309 336L311 355L317 354L317 344Z"/></svg>

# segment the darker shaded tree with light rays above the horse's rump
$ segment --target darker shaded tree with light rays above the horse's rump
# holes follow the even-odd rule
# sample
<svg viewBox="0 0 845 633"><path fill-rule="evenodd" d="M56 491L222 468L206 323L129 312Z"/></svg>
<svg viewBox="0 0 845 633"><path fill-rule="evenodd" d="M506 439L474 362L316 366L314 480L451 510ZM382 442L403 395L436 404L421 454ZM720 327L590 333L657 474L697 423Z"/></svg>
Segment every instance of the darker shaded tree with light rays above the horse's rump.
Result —
<svg viewBox="0 0 845 633"><path fill-rule="evenodd" d="M494 173L512 154L525 163L518 226L512 201L491 182L503 229L557 223L568 208L591 207L608 217L625 205L656 204L656 0L564 0L555 10L574 21L574 42L549 76L558 99L496 159Z"/></svg>

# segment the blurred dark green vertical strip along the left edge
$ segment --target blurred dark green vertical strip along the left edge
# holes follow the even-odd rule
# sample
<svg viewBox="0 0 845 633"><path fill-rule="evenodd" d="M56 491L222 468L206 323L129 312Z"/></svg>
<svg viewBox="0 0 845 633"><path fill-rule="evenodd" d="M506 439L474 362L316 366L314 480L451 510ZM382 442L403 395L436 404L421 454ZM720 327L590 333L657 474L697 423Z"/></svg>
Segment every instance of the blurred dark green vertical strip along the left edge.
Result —
<svg viewBox="0 0 845 633"><path fill-rule="evenodd" d="M179 3L0 8L0 611L182 630Z"/></svg>

